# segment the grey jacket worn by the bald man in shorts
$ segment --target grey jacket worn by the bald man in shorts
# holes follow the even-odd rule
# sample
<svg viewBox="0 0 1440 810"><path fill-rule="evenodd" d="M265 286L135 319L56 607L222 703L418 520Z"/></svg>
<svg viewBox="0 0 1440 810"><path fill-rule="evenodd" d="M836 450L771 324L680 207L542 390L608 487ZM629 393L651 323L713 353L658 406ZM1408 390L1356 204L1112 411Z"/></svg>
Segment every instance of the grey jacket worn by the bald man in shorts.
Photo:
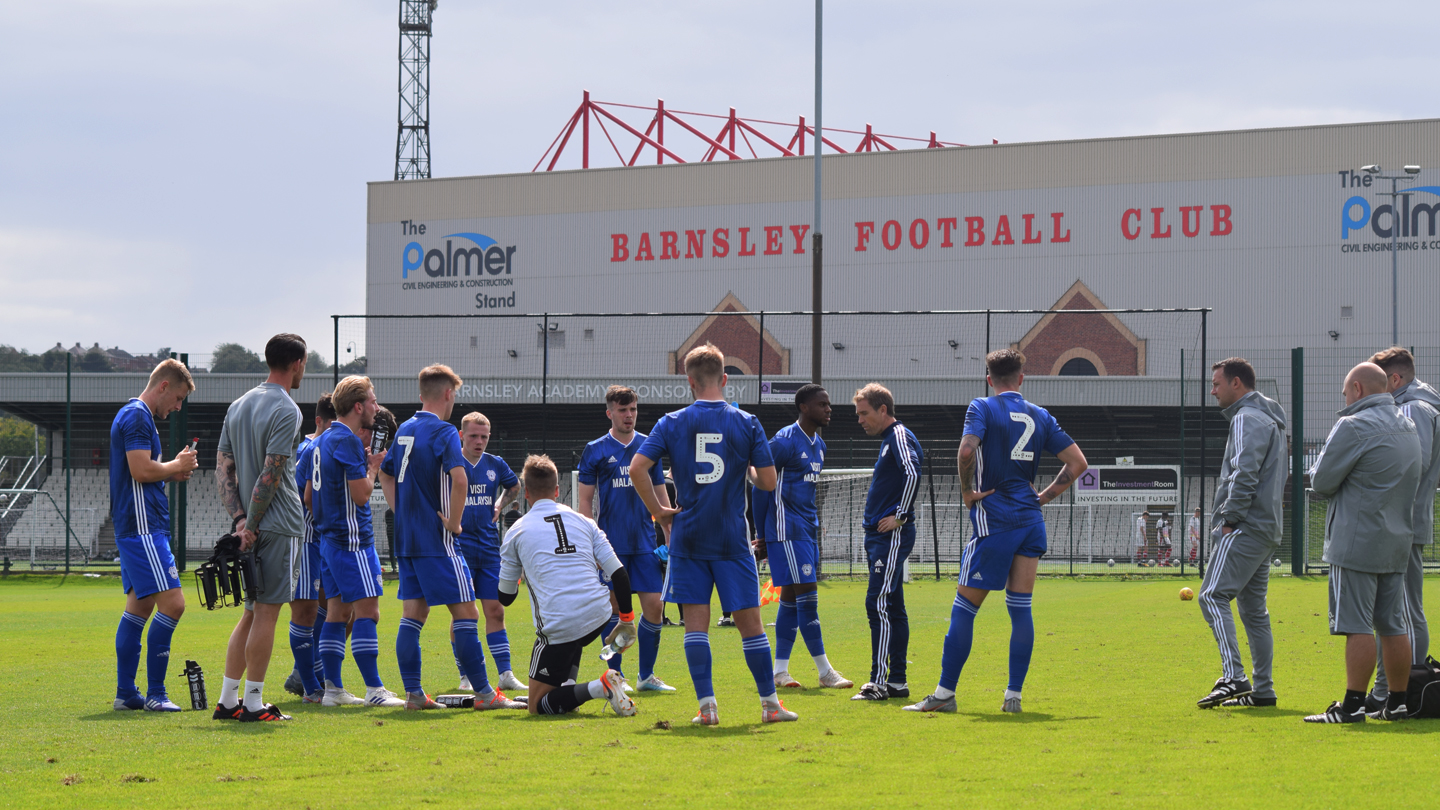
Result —
<svg viewBox="0 0 1440 810"><path fill-rule="evenodd" d="M1414 538L1420 438L1390 393L1371 393L1339 411L1310 489L1331 500L1325 562L1369 574L1404 574Z"/></svg>

